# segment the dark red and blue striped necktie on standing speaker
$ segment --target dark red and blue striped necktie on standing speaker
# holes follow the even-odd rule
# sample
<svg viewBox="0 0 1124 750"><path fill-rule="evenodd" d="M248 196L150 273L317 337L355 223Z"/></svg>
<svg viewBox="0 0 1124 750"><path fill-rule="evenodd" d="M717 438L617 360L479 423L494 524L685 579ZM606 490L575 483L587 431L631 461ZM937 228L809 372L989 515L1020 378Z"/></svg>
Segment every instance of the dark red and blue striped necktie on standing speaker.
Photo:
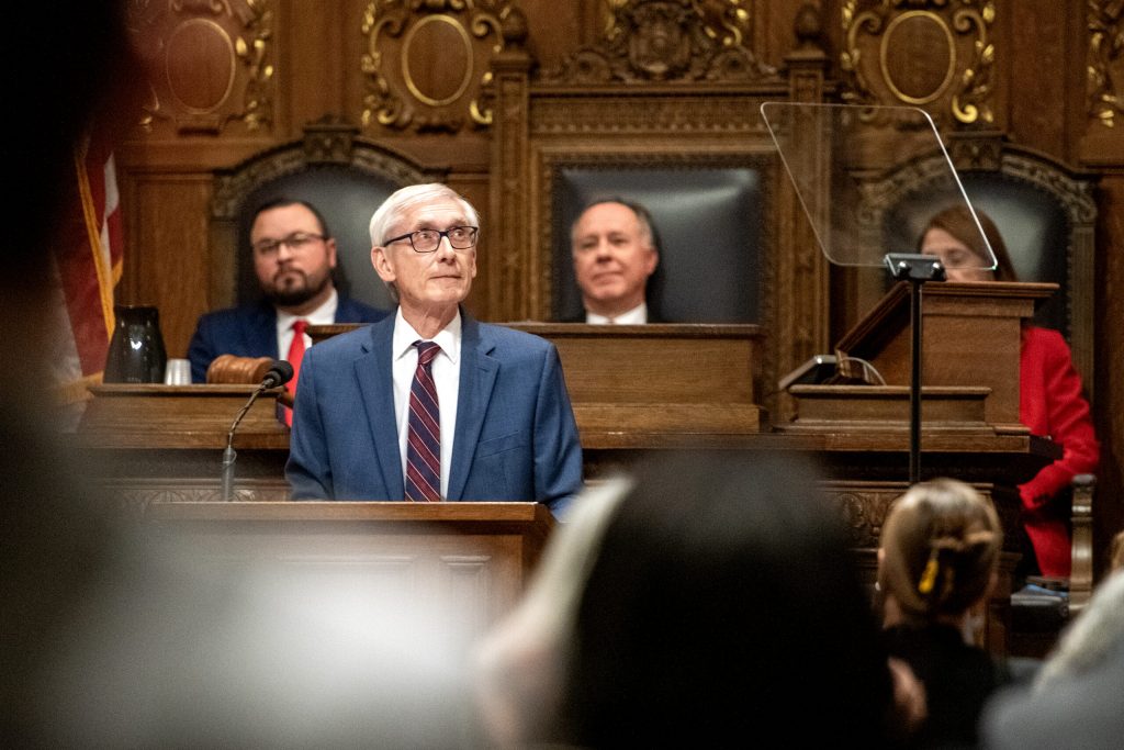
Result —
<svg viewBox="0 0 1124 750"><path fill-rule="evenodd" d="M406 499L436 503L441 497L441 410L433 381L433 358L441 346L417 341L418 367L410 383L410 415L406 433Z"/></svg>

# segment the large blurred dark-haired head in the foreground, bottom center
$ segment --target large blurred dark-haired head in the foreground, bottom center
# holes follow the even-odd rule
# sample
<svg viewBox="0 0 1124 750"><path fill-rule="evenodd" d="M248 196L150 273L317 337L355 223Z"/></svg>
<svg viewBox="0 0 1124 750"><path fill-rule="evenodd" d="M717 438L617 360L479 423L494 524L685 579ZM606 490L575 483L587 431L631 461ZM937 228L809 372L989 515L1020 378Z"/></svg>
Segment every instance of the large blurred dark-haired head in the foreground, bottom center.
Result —
<svg viewBox="0 0 1124 750"><path fill-rule="evenodd" d="M886 656L816 467L692 453L636 476L579 605L561 739L880 744Z"/></svg>

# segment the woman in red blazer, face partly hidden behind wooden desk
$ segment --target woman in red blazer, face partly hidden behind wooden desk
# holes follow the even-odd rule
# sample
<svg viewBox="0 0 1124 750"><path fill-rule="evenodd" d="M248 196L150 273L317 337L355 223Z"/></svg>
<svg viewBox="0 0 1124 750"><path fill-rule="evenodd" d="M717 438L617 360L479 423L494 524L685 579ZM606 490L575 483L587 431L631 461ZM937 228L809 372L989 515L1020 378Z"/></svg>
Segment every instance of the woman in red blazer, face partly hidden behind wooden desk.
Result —
<svg viewBox="0 0 1124 750"><path fill-rule="evenodd" d="M995 223L977 209L997 268L990 265L979 228L964 206L941 211L925 228L921 252L937 255L949 281L1018 281L1007 247ZM1057 331L1023 324L1018 360L1018 418L1034 435L1051 437L1062 457L1019 485L1023 527L1043 576L1068 577L1071 562L1069 509L1055 501L1079 473L1097 469L1100 444L1093 430L1089 404L1081 395L1081 378L1073 369L1069 346Z"/></svg>

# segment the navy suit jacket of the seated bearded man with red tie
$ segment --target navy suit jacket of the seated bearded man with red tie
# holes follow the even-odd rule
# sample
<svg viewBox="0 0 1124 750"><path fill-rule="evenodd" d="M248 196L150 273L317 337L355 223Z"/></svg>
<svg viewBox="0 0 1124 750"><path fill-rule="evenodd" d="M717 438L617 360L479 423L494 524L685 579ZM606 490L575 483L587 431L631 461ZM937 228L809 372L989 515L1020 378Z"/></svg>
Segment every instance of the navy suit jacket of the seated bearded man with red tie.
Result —
<svg viewBox="0 0 1124 750"><path fill-rule="evenodd" d="M344 297L336 307L336 323L374 323L386 316L386 310ZM191 382L207 382L207 368L219 354L278 359L277 309L262 300L202 315L188 346Z"/></svg>

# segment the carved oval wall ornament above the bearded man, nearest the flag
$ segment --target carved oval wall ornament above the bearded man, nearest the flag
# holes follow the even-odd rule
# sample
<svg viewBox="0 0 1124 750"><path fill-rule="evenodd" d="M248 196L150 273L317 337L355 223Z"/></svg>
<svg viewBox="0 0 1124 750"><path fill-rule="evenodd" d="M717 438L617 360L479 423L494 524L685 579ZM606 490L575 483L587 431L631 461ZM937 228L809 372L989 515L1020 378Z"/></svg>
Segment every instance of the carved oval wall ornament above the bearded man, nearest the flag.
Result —
<svg viewBox="0 0 1124 750"><path fill-rule="evenodd" d="M149 97L142 125L167 120L179 133L219 133L230 120L272 123L269 0L129 3Z"/></svg>

